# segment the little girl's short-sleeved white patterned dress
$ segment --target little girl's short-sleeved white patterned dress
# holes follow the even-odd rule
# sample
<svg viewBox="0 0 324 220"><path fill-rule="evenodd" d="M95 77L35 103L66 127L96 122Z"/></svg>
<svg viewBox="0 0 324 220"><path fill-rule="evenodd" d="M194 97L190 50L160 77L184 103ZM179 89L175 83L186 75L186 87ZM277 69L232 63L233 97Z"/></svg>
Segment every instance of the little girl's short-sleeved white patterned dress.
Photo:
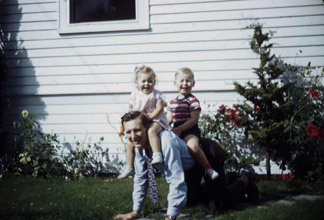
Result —
<svg viewBox="0 0 324 220"><path fill-rule="evenodd" d="M159 90L152 90L150 94L144 94L140 90L136 90L131 93L130 104L133 105L133 111L144 112L146 115L150 115L156 108L156 104L159 101L163 101L163 94ZM165 130L169 128L169 123L163 111L154 122L159 123Z"/></svg>

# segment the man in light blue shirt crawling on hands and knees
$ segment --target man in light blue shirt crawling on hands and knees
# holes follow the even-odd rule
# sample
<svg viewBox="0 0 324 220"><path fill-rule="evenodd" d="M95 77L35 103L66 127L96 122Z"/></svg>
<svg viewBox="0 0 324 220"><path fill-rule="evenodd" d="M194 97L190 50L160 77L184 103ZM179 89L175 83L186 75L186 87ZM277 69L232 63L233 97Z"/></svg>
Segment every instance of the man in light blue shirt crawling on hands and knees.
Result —
<svg viewBox="0 0 324 220"><path fill-rule="evenodd" d="M122 125L125 129L127 139L136 148L134 160L133 212L116 215L114 219L136 219L143 207L149 187L147 157L152 156L152 149L148 139L150 123L151 120L140 112L129 112L122 117ZM191 156L183 140L173 132L167 130L161 131L159 138L161 141L163 163L155 165L155 167L165 174L166 181L169 184L169 194L167 197L168 209L165 220L174 220L176 216L180 215L181 208L186 203L187 205L195 205L198 199L200 199L200 181L204 174L199 164L197 165L195 159ZM258 196L258 191L250 176L243 176L245 177L243 180L237 181L239 184L231 185L233 189L226 190L223 151L212 140L203 139L203 141L204 143L202 144L204 147L207 145L203 149L207 158L210 160L212 167L217 169L216 171L220 174L220 177L213 181L206 178L205 189L212 192L211 196L205 198L209 206L211 208L218 208L222 203L228 203L229 205L237 203L242 196L245 196L246 190L248 197L251 200L255 199ZM210 193L208 192L208 194ZM229 196L228 201L224 200L224 196Z"/></svg>

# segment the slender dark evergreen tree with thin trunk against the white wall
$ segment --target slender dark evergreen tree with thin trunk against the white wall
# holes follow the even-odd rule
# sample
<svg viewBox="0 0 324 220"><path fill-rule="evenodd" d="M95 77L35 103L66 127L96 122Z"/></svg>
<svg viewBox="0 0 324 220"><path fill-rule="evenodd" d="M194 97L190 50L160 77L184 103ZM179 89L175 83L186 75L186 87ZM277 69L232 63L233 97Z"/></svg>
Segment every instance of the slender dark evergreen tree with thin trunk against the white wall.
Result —
<svg viewBox="0 0 324 220"><path fill-rule="evenodd" d="M246 127L246 133L250 139L261 148L266 149L266 167L268 179L271 178L270 155L278 145L279 140L284 140L285 111L284 103L286 87L279 87L279 77L285 68L279 67L280 60L271 55L273 44L266 44L274 32L262 33L262 25L253 23L247 29L254 30L250 40L250 47L260 59L260 66L253 68L258 77L257 84L247 82L242 86L234 82L235 90L245 98L244 104L239 105L246 112L250 120L242 123Z"/></svg>

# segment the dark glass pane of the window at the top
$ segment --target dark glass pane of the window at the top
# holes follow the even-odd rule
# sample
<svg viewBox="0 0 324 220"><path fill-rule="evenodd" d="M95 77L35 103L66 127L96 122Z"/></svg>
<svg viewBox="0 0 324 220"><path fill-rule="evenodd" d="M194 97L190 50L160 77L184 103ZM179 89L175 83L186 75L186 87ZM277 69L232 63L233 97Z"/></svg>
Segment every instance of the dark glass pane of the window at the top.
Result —
<svg viewBox="0 0 324 220"><path fill-rule="evenodd" d="M131 19L135 0L70 0L70 23Z"/></svg>

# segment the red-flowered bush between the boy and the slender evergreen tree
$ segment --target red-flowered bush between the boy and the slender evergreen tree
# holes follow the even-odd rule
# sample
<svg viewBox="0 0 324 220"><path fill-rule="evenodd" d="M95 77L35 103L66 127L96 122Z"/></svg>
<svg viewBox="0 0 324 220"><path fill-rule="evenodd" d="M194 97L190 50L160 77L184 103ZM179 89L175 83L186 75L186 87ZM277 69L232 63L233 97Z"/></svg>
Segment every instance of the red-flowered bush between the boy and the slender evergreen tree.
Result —
<svg viewBox="0 0 324 220"><path fill-rule="evenodd" d="M224 149L227 171L251 171L262 159L253 156L249 146L243 144L245 134L241 124L246 115L241 110L237 105L221 105L215 114L203 114L199 121L201 136L215 140Z"/></svg>

